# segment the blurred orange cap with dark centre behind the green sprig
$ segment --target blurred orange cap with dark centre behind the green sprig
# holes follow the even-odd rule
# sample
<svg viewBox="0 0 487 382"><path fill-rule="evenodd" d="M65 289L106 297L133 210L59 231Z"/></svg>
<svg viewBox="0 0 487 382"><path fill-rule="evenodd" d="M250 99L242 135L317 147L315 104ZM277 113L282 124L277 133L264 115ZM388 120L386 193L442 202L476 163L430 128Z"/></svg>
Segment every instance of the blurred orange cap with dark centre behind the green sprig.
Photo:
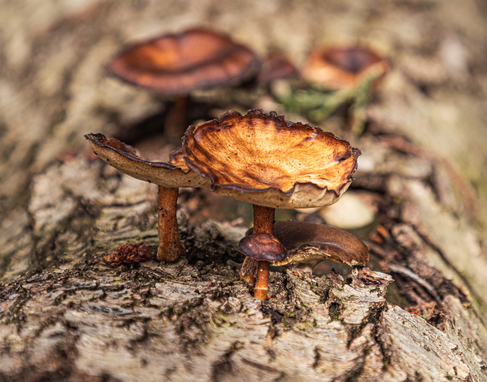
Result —
<svg viewBox="0 0 487 382"><path fill-rule="evenodd" d="M342 89L353 85L373 65L383 73L389 69L387 61L369 49L318 48L310 52L302 73L311 82L330 89Z"/></svg>

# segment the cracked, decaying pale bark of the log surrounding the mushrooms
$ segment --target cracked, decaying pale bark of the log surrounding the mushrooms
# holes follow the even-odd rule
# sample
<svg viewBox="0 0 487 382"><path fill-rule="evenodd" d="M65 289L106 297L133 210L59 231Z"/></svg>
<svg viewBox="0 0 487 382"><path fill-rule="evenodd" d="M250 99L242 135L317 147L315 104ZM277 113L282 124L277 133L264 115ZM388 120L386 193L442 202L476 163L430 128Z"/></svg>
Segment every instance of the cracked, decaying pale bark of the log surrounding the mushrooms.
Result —
<svg viewBox="0 0 487 382"><path fill-rule="evenodd" d="M482 4L3 0L1 9L0 381L486 381ZM140 142L167 105L105 65L128 41L195 24L298 65L322 43L358 41L390 57L362 137L344 129L343 111L319 124L361 149L351 190L378 209L371 262L350 279L274 271L270 298L253 299L238 281L246 228L201 223L219 206L195 190L179 197L188 249L179 262L103 262L128 242L155 256L157 188L93 159L82 135ZM212 116L282 112L264 90L193 98Z"/></svg>

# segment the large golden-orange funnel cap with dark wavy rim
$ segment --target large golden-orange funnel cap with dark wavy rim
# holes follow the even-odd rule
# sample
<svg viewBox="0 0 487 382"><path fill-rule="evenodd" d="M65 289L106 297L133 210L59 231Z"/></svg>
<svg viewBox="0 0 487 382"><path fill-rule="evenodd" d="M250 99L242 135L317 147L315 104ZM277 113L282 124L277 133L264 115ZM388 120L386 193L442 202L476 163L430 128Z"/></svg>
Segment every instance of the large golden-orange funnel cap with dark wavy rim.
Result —
<svg viewBox="0 0 487 382"><path fill-rule="evenodd" d="M318 127L283 115L230 111L183 137L189 169L210 178L210 190L272 208L321 207L348 188L360 150Z"/></svg>

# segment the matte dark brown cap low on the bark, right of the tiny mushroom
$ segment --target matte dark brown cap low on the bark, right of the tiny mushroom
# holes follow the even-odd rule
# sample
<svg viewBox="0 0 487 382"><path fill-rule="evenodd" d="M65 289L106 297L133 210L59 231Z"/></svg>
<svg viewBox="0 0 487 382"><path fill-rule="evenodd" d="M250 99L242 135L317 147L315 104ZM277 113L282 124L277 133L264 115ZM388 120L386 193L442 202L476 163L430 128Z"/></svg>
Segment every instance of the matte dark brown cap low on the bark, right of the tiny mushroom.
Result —
<svg viewBox="0 0 487 382"><path fill-rule="evenodd" d="M249 229L246 235L251 233ZM352 267L365 265L369 261L369 248L354 235L341 229L321 224L278 221L274 223L274 236L287 249L288 254L281 261L271 261L271 265L318 264L332 260Z"/></svg>

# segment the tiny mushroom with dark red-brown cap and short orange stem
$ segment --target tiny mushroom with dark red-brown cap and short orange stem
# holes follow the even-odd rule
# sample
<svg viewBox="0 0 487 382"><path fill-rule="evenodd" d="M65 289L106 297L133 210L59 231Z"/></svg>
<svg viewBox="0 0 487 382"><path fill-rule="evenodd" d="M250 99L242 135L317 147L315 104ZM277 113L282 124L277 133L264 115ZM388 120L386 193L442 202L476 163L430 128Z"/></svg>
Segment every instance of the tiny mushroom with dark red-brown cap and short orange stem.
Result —
<svg viewBox="0 0 487 382"><path fill-rule="evenodd" d="M254 297L265 300L269 284L269 262L284 261L286 249L279 240L268 233L255 233L240 240L239 250L257 261L257 282ZM255 272L254 272L255 274Z"/></svg>

